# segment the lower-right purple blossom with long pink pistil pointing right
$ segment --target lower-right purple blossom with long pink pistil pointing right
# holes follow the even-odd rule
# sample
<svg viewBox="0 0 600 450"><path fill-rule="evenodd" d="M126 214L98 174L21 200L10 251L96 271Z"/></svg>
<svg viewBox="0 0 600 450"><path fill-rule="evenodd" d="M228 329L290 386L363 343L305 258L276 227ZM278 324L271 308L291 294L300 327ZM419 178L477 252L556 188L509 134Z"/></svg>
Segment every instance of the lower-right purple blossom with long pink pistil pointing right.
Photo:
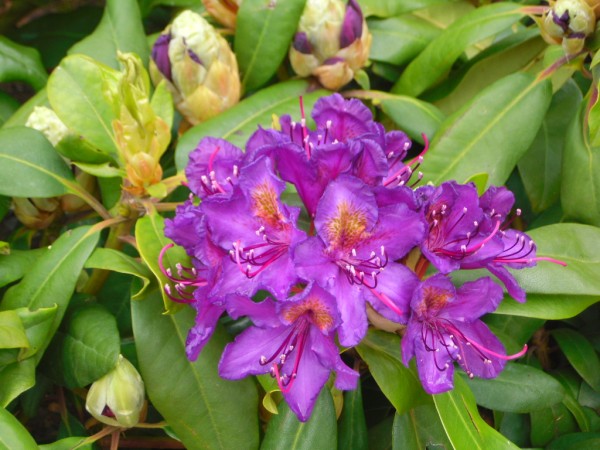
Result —
<svg viewBox="0 0 600 450"><path fill-rule="evenodd" d="M402 361L416 357L425 391L439 394L454 386L454 362L473 378L494 378L507 360L502 343L479 318L496 309L502 289L490 278L456 289L450 279L434 275L422 282L410 302L411 316L402 338Z"/></svg>

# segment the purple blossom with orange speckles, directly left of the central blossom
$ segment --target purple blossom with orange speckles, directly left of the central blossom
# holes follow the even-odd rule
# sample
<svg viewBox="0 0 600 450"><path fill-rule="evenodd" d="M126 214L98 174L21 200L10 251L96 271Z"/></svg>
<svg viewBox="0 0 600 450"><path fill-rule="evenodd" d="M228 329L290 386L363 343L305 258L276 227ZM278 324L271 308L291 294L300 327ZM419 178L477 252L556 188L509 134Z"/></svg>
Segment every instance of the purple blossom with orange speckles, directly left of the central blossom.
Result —
<svg viewBox="0 0 600 450"><path fill-rule="evenodd" d="M266 289L285 299L297 280L291 252L306 234L296 227L299 208L281 202L285 183L271 165L259 158L241 170L231 197L200 205L211 239L227 251L215 291L252 296Z"/></svg>

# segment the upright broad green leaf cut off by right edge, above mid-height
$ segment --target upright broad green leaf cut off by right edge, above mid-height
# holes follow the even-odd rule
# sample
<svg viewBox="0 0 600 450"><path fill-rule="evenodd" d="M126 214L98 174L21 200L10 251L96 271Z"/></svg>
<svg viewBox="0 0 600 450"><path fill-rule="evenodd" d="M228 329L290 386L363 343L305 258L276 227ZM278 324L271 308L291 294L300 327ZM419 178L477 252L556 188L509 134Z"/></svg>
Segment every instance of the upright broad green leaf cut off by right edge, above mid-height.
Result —
<svg viewBox="0 0 600 450"><path fill-rule="evenodd" d="M588 139L585 108L584 102L567 130L560 201L568 219L599 226L600 147L593 146Z"/></svg>

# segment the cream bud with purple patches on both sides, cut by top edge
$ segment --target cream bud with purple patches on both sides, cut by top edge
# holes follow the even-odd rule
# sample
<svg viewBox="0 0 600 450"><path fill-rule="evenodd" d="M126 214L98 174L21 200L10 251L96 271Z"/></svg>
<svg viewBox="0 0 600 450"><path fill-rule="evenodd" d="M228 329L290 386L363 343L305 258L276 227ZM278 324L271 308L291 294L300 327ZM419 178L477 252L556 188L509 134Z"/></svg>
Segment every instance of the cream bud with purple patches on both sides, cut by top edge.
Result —
<svg viewBox="0 0 600 450"><path fill-rule="evenodd" d="M308 0L290 48L300 76L315 75L328 89L349 83L369 57L371 34L356 0Z"/></svg>

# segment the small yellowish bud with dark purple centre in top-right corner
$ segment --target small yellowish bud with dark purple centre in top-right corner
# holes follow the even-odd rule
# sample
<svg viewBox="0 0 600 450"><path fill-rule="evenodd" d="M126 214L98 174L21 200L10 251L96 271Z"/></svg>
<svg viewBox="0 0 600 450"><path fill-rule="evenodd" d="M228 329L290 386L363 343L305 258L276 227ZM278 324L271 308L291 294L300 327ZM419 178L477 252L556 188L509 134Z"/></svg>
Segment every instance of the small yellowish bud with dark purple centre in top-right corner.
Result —
<svg viewBox="0 0 600 450"><path fill-rule="evenodd" d="M561 44L573 55L583 49L585 39L594 31L596 15L585 0L558 0L541 20L542 37L550 44Z"/></svg>

